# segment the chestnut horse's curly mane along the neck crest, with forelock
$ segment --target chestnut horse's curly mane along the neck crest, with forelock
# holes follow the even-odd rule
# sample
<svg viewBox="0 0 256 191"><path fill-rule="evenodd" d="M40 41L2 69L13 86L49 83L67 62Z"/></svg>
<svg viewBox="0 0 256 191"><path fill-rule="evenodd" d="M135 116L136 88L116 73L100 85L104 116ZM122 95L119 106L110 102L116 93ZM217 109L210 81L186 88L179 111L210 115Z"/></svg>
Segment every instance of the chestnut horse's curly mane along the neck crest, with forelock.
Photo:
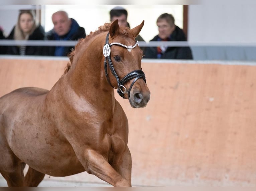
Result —
<svg viewBox="0 0 256 191"><path fill-rule="evenodd" d="M70 62L65 67L65 71L64 71L63 75L67 74L69 72L69 70L71 69L71 66L73 64L73 59L75 58L76 54L78 54L78 52L80 50L80 46L82 44L86 44L88 41L90 41L93 37L97 36L98 34L100 34L102 32L109 31L110 25L111 25L110 23L105 23L103 26L99 26L98 30L96 30L95 32L90 32L89 35L87 35L85 38L82 38L78 41L75 48L73 48L72 52L70 52L68 55ZM129 30L128 27L120 27L119 32L123 35L128 35L129 34L128 30Z"/></svg>

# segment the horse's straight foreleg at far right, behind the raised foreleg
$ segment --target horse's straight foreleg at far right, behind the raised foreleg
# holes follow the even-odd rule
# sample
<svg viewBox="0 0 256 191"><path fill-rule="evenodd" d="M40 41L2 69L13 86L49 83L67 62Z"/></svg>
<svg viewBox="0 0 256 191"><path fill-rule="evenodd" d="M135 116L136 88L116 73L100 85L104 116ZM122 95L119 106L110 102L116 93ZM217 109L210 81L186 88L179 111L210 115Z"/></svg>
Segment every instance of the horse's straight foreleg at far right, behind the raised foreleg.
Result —
<svg viewBox="0 0 256 191"><path fill-rule="evenodd" d="M122 155L122 158L117 164L112 165L113 168L126 180L131 182L131 172L132 172L132 157L128 146Z"/></svg>

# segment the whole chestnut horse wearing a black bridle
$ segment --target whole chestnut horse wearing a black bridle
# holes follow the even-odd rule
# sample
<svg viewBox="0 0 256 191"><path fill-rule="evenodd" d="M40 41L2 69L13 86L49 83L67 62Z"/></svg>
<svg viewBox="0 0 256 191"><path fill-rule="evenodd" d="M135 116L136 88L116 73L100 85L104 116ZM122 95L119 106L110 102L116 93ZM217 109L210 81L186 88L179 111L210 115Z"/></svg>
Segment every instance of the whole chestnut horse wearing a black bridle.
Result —
<svg viewBox="0 0 256 191"><path fill-rule="evenodd" d="M8 186L83 171L131 186L128 120L114 96L145 107L150 92L133 29L106 23L79 41L50 91L20 88L0 98L0 172ZM23 174L25 164L29 166Z"/></svg>

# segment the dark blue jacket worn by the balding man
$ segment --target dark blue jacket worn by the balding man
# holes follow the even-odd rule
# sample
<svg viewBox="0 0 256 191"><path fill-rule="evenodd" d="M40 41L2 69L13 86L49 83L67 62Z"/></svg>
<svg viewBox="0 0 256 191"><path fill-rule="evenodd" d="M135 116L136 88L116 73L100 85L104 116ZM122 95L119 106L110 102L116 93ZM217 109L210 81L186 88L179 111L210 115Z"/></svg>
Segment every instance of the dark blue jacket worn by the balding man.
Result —
<svg viewBox="0 0 256 191"><path fill-rule="evenodd" d="M68 32L68 34L64 36L58 36L54 30L50 30L47 34L47 40L70 40L70 41L76 41L81 38L86 37L85 29L83 27L80 27L79 24L75 19L71 18L71 29ZM48 47L48 56L67 56L71 51L73 47Z"/></svg>

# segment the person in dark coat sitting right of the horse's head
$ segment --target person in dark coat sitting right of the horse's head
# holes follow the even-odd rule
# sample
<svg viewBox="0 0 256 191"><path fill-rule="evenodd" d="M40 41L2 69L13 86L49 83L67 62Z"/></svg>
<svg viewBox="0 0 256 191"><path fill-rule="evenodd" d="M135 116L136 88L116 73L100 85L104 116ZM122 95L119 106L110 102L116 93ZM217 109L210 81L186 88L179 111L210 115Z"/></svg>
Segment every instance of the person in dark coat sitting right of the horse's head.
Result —
<svg viewBox="0 0 256 191"><path fill-rule="evenodd" d="M174 17L171 14L161 14L156 21L158 35L151 41L186 41L182 29L174 24ZM190 47L146 47L144 58L154 59L193 59Z"/></svg>

